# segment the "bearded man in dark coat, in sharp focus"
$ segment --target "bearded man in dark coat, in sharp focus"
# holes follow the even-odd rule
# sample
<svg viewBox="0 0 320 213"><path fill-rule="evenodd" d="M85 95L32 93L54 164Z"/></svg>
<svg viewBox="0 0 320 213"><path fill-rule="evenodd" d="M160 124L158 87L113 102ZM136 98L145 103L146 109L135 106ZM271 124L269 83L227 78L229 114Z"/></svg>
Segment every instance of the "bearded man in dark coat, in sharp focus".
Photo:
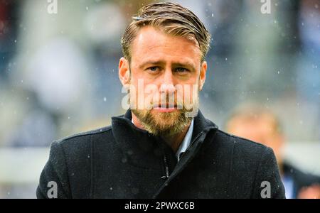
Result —
<svg viewBox="0 0 320 213"><path fill-rule="evenodd" d="M272 149L220 131L198 111L209 44L188 9L142 7L119 60L130 109L111 126L54 142L37 197L283 198Z"/></svg>

